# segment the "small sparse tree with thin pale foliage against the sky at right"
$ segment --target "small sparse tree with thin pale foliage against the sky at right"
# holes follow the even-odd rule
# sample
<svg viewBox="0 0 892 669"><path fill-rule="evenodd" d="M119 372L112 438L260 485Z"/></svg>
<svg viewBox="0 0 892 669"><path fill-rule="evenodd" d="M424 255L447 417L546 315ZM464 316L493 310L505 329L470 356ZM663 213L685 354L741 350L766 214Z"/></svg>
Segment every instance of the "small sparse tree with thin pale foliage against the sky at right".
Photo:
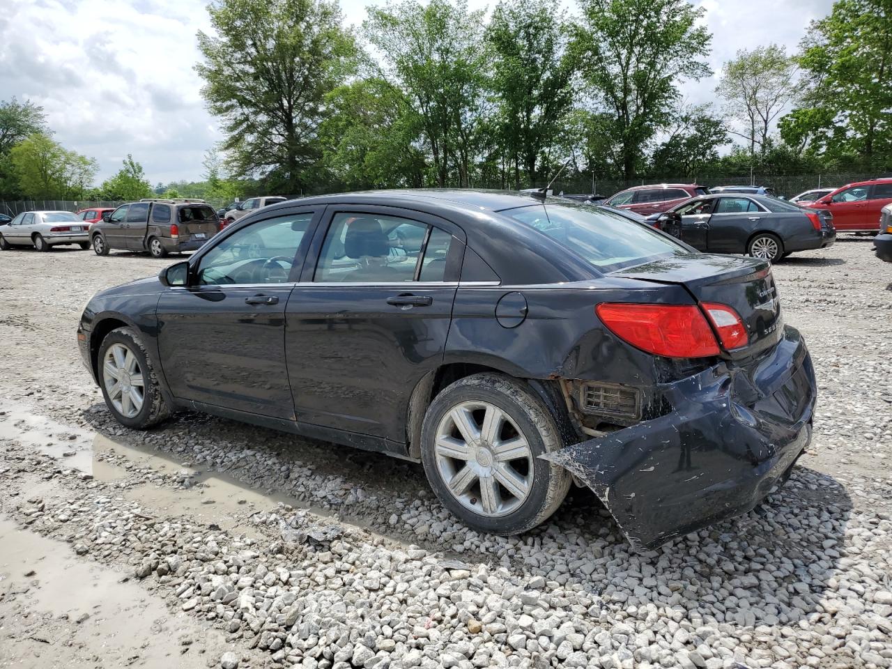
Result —
<svg viewBox="0 0 892 669"><path fill-rule="evenodd" d="M796 60L773 44L740 50L724 64L715 93L725 100L728 119L741 128L731 133L747 141L750 156L756 146L767 148L774 120L796 98L797 71Z"/></svg>

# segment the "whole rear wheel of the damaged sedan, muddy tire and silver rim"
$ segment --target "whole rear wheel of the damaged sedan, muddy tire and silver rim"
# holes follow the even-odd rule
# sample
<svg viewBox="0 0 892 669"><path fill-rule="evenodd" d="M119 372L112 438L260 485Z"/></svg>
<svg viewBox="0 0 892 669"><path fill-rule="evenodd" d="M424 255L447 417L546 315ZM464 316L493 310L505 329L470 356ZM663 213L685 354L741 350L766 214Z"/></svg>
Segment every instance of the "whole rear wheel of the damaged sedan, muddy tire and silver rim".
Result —
<svg viewBox="0 0 892 669"><path fill-rule="evenodd" d="M443 506L469 527L494 534L531 530L564 501L571 475L539 458L562 445L539 397L495 373L446 387L421 430L425 474Z"/></svg>

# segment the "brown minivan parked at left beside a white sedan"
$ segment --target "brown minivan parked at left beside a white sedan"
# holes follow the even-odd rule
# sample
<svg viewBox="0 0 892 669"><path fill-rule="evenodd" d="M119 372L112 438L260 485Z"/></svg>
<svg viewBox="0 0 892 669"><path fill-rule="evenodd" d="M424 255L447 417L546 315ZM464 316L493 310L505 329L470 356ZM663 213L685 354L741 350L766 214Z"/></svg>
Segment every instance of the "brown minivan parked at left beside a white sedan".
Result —
<svg viewBox="0 0 892 669"><path fill-rule="evenodd" d="M122 204L90 227L96 255L111 249L147 251L155 258L195 251L219 231L217 212L203 200L147 199Z"/></svg>

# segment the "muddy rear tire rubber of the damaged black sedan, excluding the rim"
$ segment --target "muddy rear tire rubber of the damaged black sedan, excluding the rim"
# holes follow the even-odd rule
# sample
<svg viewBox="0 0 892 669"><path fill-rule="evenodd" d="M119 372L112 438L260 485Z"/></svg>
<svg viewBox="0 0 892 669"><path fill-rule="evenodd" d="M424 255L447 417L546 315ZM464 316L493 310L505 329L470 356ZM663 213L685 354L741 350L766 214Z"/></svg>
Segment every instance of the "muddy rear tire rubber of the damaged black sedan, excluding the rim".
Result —
<svg viewBox="0 0 892 669"><path fill-rule="evenodd" d="M447 416L451 415L452 409L473 406L476 402L500 409L508 419L503 426L508 425L506 429L508 429L509 435L517 433L523 437L532 454L532 469L528 466L524 467L525 474L521 473L521 477L526 476L527 481L532 473L532 483L526 486L528 492L525 498L523 500L515 498L512 503L516 504L516 507L508 506L509 511L496 516L476 513L468 506L475 506L477 503L472 496L476 490L481 498L479 508L483 511L485 504L482 492L483 477L478 479L476 489L472 486L463 493L470 497L469 500L459 500L450 491L441 469L441 467L448 469L452 460L438 457L435 452L437 434L442 429L442 425L448 424L450 419ZM483 412L487 410L480 409ZM482 422L480 425L482 425L481 431L485 430L485 423ZM510 376L495 373L467 376L443 389L427 409L421 430L421 458L427 480L430 482L434 494L443 506L458 516L463 523L484 533L505 535L523 533L547 520L558 509L570 488L572 476L563 467L538 456L558 450L562 446L555 419L539 397L522 382ZM481 462L477 458L472 460L468 457L465 459L468 463L475 465ZM455 460L455 462L460 461L460 459ZM498 458L491 459L491 456L487 456L483 464L496 461ZM521 460L522 463L528 461ZM461 472L465 467L469 467L469 465L457 465L456 469ZM454 478L458 477L458 472ZM498 476L489 476L489 478L497 479ZM497 490L499 491L499 500L503 499L503 492L508 492L509 497L512 496L507 488L501 486L501 483L498 484Z"/></svg>

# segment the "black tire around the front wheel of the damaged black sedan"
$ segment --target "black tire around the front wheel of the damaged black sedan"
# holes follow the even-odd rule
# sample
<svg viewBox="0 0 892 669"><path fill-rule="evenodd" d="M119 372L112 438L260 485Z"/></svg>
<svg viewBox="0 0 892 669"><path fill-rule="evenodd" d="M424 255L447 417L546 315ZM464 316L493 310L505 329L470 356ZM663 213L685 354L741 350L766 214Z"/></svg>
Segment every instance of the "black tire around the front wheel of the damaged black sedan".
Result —
<svg viewBox="0 0 892 669"><path fill-rule="evenodd" d="M109 395L109 385L113 385L114 380L117 377L109 376L109 368L106 367L105 360L109 355L111 348L116 345L123 346L136 357L137 367L135 368L134 375L138 372L143 378L143 402L140 405L138 412L133 416L125 415L121 409L115 406L115 402L112 401ZM111 357L113 358L113 354ZM96 376L99 379L99 388L103 392L105 406L109 408L111 415L121 425L130 427L134 430L145 430L153 425L157 425L166 417L169 417L170 409L167 402L164 401L164 395L161 392L158 376L155 374L155 370L145 351L145 346L143 345L142 340L139 335L136 334L136 330L132 327L119 327L116 330L112 330L108 335L105 335L103 343L99 346L96 368ZM130 376L132 377L134 375ZM138 388L138 385L132 385ZM131 387L131 384L128 383L127 387ZM123 399L122 395L121 399ZM135 408L132 405L132 401L131 408Z"/></svg>

